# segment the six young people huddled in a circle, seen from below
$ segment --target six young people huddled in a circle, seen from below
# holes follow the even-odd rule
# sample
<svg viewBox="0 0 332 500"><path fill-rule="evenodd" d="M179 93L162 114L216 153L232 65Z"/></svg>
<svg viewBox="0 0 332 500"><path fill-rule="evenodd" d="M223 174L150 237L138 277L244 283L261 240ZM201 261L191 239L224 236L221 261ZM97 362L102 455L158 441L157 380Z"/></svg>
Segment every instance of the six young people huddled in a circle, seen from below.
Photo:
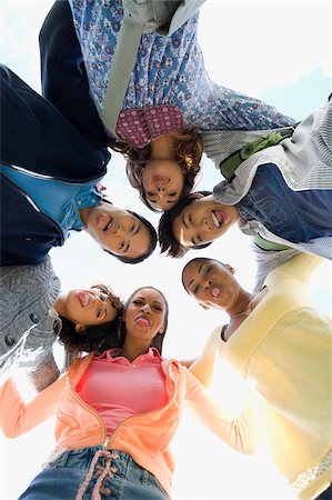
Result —
<svg viewBox="0 0 332 500"><path fill-rule="evenodd" d="M306 291L332 259L332 99L296 122L212 81L203 1L57 0L42 96L0 66L0 427L13 438L54 416L57 440L20 500L170 499L184 404L239 452L263 437L294 498L332 499L332 324ZM158 228L105 198L112 151ZM203 153L220 170L210 191L195 190ZM251 239L253 290L209 257L232 226ZM127 301L111 283L61 291L49 252L82 230L127 264L205 248L182 284L229 322L195 359L165 359L168 301L149 278ZM240 416L208 391L220 362L250 388Z"/></svg>

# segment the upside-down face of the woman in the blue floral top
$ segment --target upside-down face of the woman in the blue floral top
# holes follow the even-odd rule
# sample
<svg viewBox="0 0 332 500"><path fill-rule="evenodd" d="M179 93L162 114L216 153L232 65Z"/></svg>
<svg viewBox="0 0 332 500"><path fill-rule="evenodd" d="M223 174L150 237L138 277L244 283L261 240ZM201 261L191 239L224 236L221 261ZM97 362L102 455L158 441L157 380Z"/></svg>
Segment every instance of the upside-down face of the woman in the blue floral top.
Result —
<svg viewBox="0 0 332 500"><path fill-rule="evenodd" d="M149 160L142 171L142 183L149 204L161 211L170 210L183 190L183 173L174 160Z"/></svg>

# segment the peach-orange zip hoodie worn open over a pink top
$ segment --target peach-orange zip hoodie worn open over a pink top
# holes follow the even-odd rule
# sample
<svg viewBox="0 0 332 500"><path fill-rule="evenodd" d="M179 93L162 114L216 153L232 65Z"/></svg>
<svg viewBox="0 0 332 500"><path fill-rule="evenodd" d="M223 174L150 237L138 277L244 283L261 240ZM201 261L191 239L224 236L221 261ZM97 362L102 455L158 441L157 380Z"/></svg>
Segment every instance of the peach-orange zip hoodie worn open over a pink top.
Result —
<svg viewBox="0 0 332 500"><path fill-rule="evenodd" d="M0 424L7 437L17 437L41 423L56 412L54 451L104 444L128 452L141 467L153 473L171 497L174 460L170 450L181 419L184 401L202 422L238 451L254 449L255 432L249 428L252 418L242 413L230 418L208 396L204 387L178 361L163 360L168 403L148 413L125 419L111 436L98 412L87 404L74 388L87 370L93 353L77 359L69 372L24 403L14 382L9 379L0 388Z"/></svg>

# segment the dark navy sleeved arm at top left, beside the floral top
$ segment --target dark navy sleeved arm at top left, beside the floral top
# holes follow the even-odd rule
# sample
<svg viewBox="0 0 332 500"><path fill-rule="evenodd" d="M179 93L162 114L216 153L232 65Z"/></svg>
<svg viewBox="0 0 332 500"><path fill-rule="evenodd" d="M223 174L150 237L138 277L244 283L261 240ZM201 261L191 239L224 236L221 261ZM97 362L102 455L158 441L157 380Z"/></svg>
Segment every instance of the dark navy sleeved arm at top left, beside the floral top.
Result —
<svg viewBox="0 0 332 500"><path fill-rule="evenodd" d="M89 80L68 1L58 0L39 34L42 94L90 142L108 137L90 94Z"/></svg>

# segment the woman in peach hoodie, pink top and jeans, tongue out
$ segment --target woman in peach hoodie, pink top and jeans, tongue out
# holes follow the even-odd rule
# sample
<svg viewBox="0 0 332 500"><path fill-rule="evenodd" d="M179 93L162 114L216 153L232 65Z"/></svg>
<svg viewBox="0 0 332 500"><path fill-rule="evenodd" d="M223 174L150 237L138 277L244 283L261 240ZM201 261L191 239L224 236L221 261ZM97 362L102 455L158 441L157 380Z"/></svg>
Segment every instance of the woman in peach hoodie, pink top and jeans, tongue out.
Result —
<svg viewBox="0 0 332 500"><path fill-rule="evenodd" d="M253 451L245 412L233 420L187 368L162 358L168 313L159 290L140 288L124 306L119 348L76 359L27 404L12 380L0 389L0 423L9 437L56 412L54 453L20 500L169 499L170 442L184 401L232 448Z"/></svg>

